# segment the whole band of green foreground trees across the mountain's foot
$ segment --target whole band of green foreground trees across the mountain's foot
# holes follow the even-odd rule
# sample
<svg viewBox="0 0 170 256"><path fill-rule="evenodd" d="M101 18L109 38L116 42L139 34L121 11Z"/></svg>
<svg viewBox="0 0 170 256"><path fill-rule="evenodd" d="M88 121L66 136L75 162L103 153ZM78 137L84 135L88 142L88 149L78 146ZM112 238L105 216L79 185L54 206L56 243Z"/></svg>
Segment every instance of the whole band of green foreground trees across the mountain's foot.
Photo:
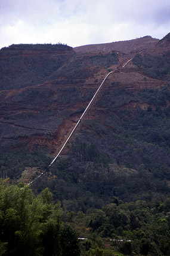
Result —
<svg viewBox="0 0 170 256"><path fill-rule="evenodd" d="M0 185L0 255L169 255L170 201L123 203L112 197L102 209L64 212L44 189ZM74 230L77 230L76 233ZM79 236L88 239L78 242ZM101 237L109 238L102 240ZM110 248L106 248L110 243Z"/></svg>

